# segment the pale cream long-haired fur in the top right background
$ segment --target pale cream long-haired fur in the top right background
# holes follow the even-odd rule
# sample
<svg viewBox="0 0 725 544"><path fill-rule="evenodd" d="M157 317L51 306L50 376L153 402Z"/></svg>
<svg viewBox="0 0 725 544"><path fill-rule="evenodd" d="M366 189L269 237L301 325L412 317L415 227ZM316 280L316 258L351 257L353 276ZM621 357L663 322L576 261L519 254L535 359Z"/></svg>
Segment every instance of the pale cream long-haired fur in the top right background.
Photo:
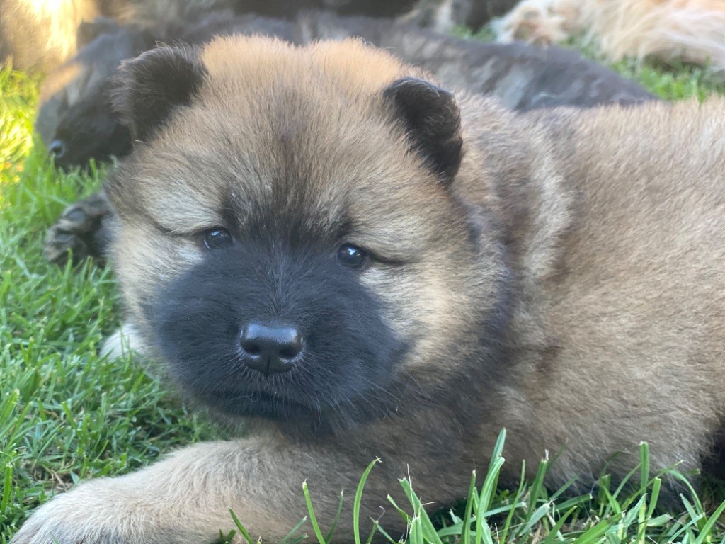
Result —
<svg viewBox="0 0 725 544"><path fill-rule="evenodd" d="M653 57L725 70L723 0L523 0L494 28L500 41L539 45L585 32L611 60Z"/></svg>

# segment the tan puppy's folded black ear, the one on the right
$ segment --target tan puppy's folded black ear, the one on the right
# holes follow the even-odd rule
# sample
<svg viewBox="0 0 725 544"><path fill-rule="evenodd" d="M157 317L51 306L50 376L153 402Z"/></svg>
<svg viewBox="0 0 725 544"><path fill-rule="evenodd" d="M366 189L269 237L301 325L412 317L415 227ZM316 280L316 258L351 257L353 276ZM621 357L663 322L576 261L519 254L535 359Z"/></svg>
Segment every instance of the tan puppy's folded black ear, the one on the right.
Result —
<svg viewBox="0 0 725 544"><path fill-rule="evenodd" d="M463 157L460 110L452 93L428 81L403 78L383 91L394 115L405 124L410 144L444 184L454 178Z"/></svg>

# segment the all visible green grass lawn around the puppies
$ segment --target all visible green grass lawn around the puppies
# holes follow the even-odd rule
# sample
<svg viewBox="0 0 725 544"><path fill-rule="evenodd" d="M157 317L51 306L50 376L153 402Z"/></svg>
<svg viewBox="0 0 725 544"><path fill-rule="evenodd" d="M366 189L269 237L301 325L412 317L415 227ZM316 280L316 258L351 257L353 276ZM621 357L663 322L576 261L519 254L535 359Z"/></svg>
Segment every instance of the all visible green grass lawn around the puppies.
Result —
<svg viewBox="0 0 725 544"><path fill-rule="evenodd" d="M616 68L668 99L725 94L691 67ZM120 319L110 271L90 262L60 270L43 260L46 229L65 205L99 186L103 171L57 172L33 147L37 88L38 78L0 71L0 544L33 508L78 480L133 471L219 433L133 360L96 354ZM572 498L547 493L540 477L497 490L503 460L494 455L489 478L455 514L431 524L413 495L399 506L419 514L411 520L415 544L725 542L716 522L725 499L718 482L664 511L655 508L660 478L649 471L645 446L642 461L626 490L604 476L594 496Z"/></svg>

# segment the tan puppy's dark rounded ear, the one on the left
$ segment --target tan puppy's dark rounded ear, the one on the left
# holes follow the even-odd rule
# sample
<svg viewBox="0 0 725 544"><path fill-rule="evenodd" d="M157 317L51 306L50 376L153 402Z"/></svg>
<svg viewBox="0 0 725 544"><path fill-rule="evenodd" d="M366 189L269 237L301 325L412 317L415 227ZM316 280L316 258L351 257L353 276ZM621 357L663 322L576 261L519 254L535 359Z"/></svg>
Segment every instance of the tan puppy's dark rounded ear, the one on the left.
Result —
<svg viewBox="0 0 725 544"><path fill-rule="evenodd" d="M191 103L206 75L195 49L146 51L123 62L113 76L113 109L133 141L144 141L176 108Z"/></svg>

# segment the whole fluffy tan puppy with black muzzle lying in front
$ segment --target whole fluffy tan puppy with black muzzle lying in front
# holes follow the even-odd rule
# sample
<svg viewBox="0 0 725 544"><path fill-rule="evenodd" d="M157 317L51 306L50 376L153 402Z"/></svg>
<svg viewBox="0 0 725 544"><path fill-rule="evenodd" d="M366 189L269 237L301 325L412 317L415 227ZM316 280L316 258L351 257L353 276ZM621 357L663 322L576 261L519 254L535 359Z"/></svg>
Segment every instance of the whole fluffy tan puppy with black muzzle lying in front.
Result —
<svg viewBox="0 0 725 544"><path fill-rule="evenodd" d="M41 507L14 544L274 542L365 466L363 519L547 450L548 483L700 466L725 408L725 104L515 115L357 41L127 62L112 175L130 327L253 422ZM402 531L397 514L381 520ZM352 540L349 501L337 532ZM54 540L57 539L57 540Z"/></svg>

